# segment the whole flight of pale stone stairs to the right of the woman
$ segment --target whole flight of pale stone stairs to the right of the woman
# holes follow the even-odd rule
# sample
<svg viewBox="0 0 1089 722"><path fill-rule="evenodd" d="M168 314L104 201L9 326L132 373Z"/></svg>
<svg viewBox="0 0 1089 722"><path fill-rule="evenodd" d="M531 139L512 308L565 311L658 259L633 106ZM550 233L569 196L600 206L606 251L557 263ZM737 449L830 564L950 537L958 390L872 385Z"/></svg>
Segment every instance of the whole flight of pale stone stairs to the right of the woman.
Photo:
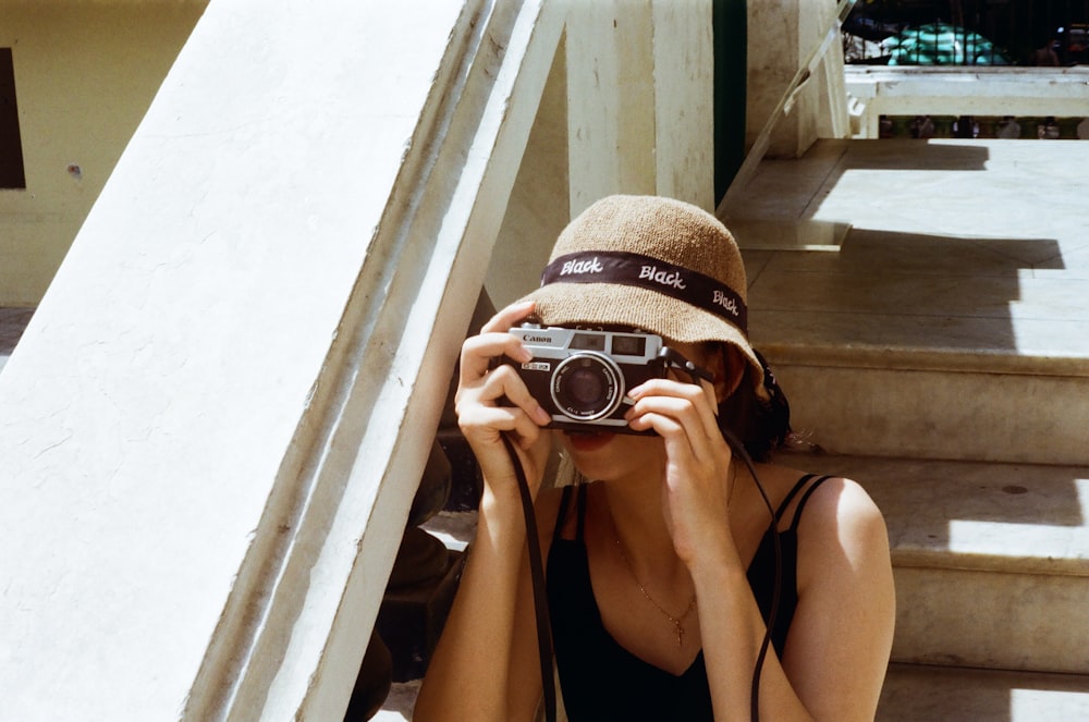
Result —
<svg viewBox="0 0 1089 722"><path fill-rule="evenodd" d="M1086 168L1079 142L825 140L726 211L821 452L783 463L885 513L881 722L1089 719Z"/></svg>

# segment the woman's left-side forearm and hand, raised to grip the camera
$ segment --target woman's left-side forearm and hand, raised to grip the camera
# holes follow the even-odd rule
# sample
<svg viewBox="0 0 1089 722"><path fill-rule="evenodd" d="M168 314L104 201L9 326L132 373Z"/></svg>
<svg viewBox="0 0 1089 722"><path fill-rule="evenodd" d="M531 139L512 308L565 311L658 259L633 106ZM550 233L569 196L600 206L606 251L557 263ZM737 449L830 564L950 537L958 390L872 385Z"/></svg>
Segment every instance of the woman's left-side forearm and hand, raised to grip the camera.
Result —
<svg viewBox="0 0 1089 722"><path fill-rule="evenodd" d="M462 345L457 425L484 474L476 536L442 637L416 697L413 719L531 720L541 695L533 644L533 593L521 492L502 435L536 494L551 448L551 420L529 394L515 363L530 353L509 333L533 311L509 306ZM543 527L551 529L551 527ZM546 543L550 539L544 535Z"/></svg>

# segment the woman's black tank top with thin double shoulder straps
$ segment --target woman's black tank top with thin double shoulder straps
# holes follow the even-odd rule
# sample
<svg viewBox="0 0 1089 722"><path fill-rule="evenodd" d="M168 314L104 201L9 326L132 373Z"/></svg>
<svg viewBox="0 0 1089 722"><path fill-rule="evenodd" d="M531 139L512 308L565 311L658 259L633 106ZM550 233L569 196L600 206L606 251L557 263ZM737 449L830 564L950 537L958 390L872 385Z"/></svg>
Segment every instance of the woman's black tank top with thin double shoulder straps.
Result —
<svg viewBox="0 0 1089 722"><path fill-rule="evenodd" d="M791 489L775 513L776 522L794 497L813 478L815 475L806 475ZM798 603L798 522L809 494L828 478L820 477L809 486L798 502L791 526L778 533L783 562L782 585L771 640L780 657ZM572 489L578 490L577 531L574 539L564 539L560 530L571 506ZM586 487L566 487L560 510L548 555L547 588L556 669L568 720L713 720L702 651L685 672L675 676L632 654L605 631L590 586L583 538ZM766 621L775 587L773 534L771 529L764 534L748 568L749 586Z"/></svg>

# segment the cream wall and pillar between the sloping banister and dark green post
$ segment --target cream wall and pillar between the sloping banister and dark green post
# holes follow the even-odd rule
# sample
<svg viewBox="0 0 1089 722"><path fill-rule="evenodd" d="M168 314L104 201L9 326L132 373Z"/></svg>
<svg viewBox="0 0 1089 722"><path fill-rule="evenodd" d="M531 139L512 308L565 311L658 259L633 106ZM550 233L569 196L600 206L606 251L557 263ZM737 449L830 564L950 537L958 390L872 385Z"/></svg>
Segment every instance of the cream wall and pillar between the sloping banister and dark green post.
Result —
<svg viewBox="0 0 1089 722"><path fill-rule="evenodd" d="M555 237L598 198L711 208L711 39L703 0L572 4L488 271L497 308L537 287Z"/></svg>

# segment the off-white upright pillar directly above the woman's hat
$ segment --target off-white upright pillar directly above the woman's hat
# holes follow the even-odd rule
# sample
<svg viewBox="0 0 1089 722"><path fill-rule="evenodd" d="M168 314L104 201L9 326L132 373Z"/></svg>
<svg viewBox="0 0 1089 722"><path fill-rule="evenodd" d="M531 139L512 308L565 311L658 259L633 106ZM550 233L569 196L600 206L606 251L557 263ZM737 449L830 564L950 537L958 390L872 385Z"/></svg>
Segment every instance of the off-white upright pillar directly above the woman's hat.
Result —
<svg viewBox="0 0 1089 722"><path fill-rule="evenodd" d="M711 2L575 2L571 212L612 193L714 204Z"/></svg>

